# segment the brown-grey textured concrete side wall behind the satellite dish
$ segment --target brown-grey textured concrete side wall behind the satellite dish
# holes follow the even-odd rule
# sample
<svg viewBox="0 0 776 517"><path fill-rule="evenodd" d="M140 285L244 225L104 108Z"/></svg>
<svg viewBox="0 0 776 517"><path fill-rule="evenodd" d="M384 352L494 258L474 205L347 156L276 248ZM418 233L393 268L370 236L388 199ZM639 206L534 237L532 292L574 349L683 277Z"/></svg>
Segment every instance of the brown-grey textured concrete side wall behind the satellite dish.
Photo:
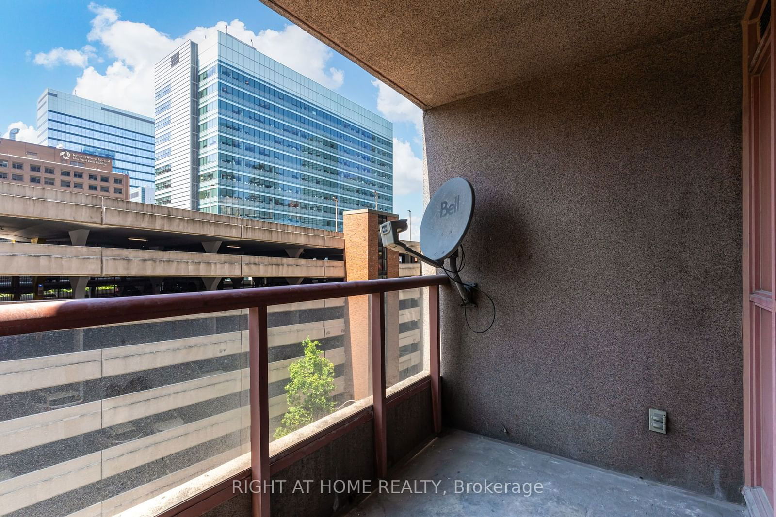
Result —
<svg viewBox="0 0 776 517"><path fill-rule="evenodd" d="M497 307L444 290L449 424L740 500L740 69L731 25L426 112Z"/></svg>

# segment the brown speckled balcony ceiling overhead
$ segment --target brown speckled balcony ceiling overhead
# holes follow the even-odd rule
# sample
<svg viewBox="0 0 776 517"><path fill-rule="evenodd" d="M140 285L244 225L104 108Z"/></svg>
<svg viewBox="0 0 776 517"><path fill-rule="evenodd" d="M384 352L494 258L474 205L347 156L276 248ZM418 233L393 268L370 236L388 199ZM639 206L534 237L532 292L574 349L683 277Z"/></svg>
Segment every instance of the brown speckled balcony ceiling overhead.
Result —
<svg viewBox="0 0 776 517"><path fill-rule="evenodd" d="M262 0L431 108L687 33L742 0Z"/></svg>

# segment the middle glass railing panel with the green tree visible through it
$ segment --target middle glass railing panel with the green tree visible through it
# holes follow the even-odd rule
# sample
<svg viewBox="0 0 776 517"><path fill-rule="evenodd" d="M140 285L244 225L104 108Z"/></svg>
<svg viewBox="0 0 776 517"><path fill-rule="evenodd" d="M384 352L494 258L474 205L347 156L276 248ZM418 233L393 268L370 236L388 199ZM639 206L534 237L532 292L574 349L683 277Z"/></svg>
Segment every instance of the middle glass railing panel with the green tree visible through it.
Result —
<svg viewBox="0 0 776 517"><path fill-rule="evenodd" d="M268 308L272 453L371 403L369 296Z"/></svg>

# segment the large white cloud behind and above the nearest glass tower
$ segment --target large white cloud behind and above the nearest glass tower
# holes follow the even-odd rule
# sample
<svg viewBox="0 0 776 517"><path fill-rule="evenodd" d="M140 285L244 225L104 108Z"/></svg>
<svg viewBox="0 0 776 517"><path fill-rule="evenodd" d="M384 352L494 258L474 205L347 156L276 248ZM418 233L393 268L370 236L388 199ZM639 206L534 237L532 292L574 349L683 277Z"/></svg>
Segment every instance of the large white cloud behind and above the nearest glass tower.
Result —
<svg viewBox="0 0 776 517"><path fill-rule="evenodd" d="M154 113L154 64L185 40L200 43L206 37L215 37L217 30L227 32L248 44L253 40L254 47L260 52L328 88L340 87L345 78L343 71L327 65L334 53L297 26L286 26L282 31L266 29L254 33L244 22L234 19L229 23L217 22L210 27L196 27L183 36L171 38L147 23L121 19L116 9L94 3L89 5L89 9L95 13L95 17L92 19L88 40L98 45L102 52L113 59L113 63L105 72L95 67L85 67L76 79L75 93L79 97L144 115ZM55 51L57 49L50 53ZM76 60L75 57L72 59ZM83 66L87 62L88 59Z"/></svg>

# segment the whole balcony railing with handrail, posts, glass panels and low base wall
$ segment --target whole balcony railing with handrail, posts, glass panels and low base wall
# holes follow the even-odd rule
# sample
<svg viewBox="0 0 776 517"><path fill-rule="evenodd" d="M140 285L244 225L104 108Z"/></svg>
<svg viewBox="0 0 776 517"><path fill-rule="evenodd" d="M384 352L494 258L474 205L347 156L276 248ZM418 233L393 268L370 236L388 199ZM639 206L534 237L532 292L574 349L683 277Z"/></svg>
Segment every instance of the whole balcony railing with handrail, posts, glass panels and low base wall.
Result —
<svg viewBox="0 0 776 517"><path fill-rule="evenodd" d="M234 487L251 479L386 477L441 425L428 345L446 281L2 306L0 508L177 515L240 501ZM329 402L292 425L285 387L305 339L331 368ZM362 453L341 454L344 443ZM285 497L255 493L252 504L281 515L293 508ZM307 504L320 512L328 499Z"/></svg>

